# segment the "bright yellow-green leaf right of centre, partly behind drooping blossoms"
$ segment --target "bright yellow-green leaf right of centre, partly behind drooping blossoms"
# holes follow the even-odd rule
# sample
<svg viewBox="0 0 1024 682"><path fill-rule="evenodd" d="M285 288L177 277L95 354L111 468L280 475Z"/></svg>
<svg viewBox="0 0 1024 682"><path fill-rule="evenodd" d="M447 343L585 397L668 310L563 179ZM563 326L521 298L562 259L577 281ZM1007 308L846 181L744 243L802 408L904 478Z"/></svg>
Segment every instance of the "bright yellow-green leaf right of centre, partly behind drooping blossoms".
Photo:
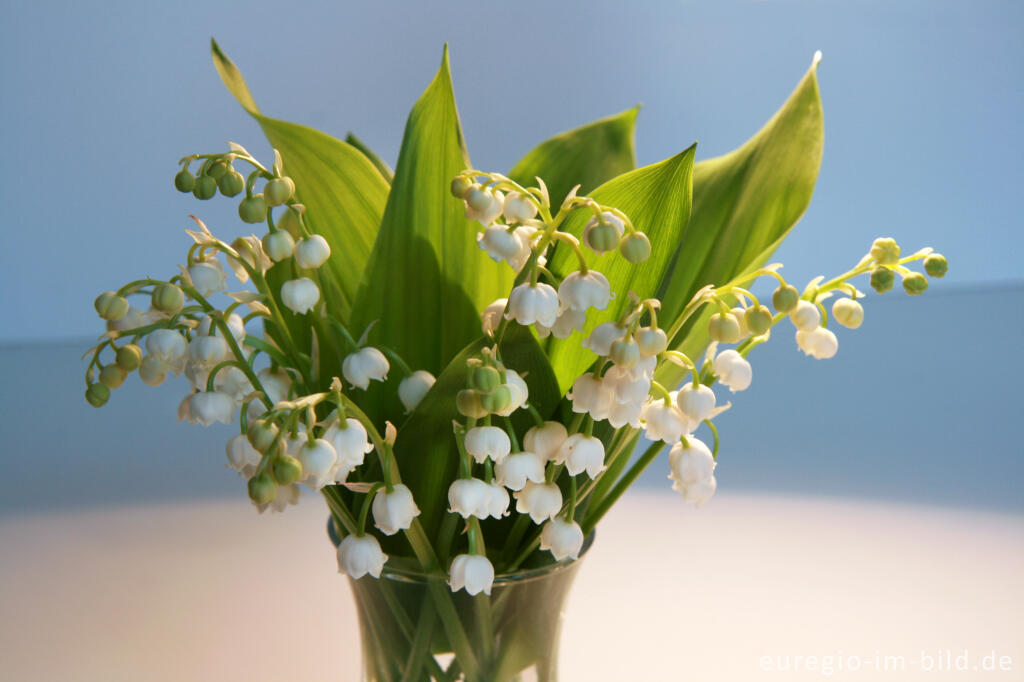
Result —
<svg viewBox="0 0 1024 682"><path fill-rule="evenodd" d="M590 193L595 201L626 213L634 226L650 239L651 254L644 263L634 265L617 251L597 256L584 250L587 266L608 278L616 296L606 310L588 313L585 334L601 323L621 316L629 305L628 292L636 292L641 298L656 293L690 217L695 151L696 144L671 159L620 175ZM592 215L589 211L577 210L566 220L564 229L581 235ZM579 264L570 250L559 247L549 267L558 276L564 276L578 269ZM581 340L575 334L566 340L548 340L548 356L563 392L597 357L580 345Z"/></svg>

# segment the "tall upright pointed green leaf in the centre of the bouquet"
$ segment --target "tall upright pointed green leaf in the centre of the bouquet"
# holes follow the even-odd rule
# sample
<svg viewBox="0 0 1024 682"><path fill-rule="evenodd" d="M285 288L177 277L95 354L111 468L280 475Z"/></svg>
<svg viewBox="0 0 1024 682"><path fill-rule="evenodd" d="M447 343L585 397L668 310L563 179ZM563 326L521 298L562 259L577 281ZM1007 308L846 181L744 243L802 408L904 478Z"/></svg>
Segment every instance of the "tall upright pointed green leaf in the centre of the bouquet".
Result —
<svg viewBox="0 0 1024 682"><path fill-rule="evenodd" d="M480 335L479 311L512 283L511 269L476 246L479 225L450 193L452 178L469 167L445 47L437 76L409 116L351 316L356 334L376 321L370 343L397 351L414 370L443 369ZM366 396L375 419L393 418L396 406L383 391Z"/></svg>

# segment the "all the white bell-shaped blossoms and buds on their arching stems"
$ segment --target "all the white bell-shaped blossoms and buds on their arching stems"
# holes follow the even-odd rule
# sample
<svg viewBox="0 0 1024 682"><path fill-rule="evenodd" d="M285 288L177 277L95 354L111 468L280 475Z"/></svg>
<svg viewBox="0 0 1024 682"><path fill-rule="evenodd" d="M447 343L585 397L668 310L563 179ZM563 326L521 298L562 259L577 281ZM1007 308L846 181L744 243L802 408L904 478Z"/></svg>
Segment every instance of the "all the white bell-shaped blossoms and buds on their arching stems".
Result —
<svg viewBox="0 0 1024 682"><path fill-rule="evenodd" d="M188 166L200 160L193 176ZM237 161L255 168L248 178L233 169ZM258 180L265 180L263 193L254 191ZM178 419L204 426L237 419L240 429L227 441L227 463L246 479L256 508L283 511L298 502L302 487L319 492L344 536L337 548L339 570L353 579L380 577L388 556L378 536L422 532L416 525L420 508L401 482L397 430L390 423L375 424L359 406L364 391L388 381L394 367L401 375L396 397L414 413L436 390L434 376L411 370L389 348L368 344L370 329L356 341L331 317L322 300L322 291L331 291L324 285L333 274L322 269L331 245L308 228L280 157L272 169L238 145L227 154L186 157L175 185L199 199L218 189L228 197L245 191L240 216L250 223L265 220L268 231L228 245L197 219L199 229L186 230L195 244L178 274L101 294L95 307L108 331L89 351L86 399L102 406L110 390L134 371L152 386L183 374L189 389ZM748 356L768 340L774 325L788 318L801 350L831 357L838 339L827 328L824 301L841 295L831 306L839 325L856 329L864 318L863 294L850 284L852 278L870 273L871 287L884 293L899 275L907 293L920 294L928 281L906 263L924 259L931 276L946 269L945 259L931 250L901 258L893 240L877 240L849 272L827 282L818 278L803 293L775 265L705 287L663 329L657 299L613 291L612 282L593 266L611 252L632 264L643 262L651 253L644 232L616 208L578 196L578 188L552 215L547 188L540 179L538 185L526 188L503 175L472 170L452 182L467 217L480 224L480 249L519 273L508 296L483 310L487 343L466 361L465 383L451 396L460 419L454 424L455 474L446 511L450 521L464 524L467 547L444 558L451 558L452 590L472 595L489 594L496 568L514 570L538 548L556 561L577 559L594 524L666 445L674 489L687 502L706 503L717 487L719 438L713 420L729 408L719 404L713 387L717 383L735 393L751 386ZM572 224L566 220L575 211L584 214L575 223L579 237L559 229ZM579 267L561 274L549 269L556 245L571 253L570 262ZM291 261L288 271L295 276L271 291L266 272L285 261ZM228 270L255 291L227 292ZM745 288L761 276L779 283L772 294L774 313ZM216 307L212 301L218 295L230 303ZM148 298L148 308L131 305L129 297ZM282 306L316 331L311 352L296 345ZM712 310L711 343L697 363L678 347L684 325L705 306ZM247 332L252 322L263 326L262 336ZM337 337L322 331L328 324ZM510 325L529 327L540 339L553 337L551 344L571 342L579 334L580 346L593 354L560 411L548 404L548 414L541 414L530 402L526 373L502 358ZM317 376L318 353L328 344L341 377L325 380ZM714 436L711 447L694 435L702 427ZM641 432L653 444L624 473ZM360 496L355 513L349 506ZM488 548L481 524L497 528L512 515L505 546Z"/></svg>

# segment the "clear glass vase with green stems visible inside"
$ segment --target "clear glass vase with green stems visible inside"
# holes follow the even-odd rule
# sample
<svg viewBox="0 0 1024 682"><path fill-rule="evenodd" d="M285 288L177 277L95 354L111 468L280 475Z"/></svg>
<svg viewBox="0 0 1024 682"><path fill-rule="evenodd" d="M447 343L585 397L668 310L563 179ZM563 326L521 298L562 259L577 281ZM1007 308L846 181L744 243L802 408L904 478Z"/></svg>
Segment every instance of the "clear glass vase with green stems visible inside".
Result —
<svg viewBox="0 0 1024 682"><path fill-rule="evenodd" d="M584 553L593 542L588 538ZM581 554L581 559L583 554ZM553 682L565 598L580 559L495 578L490 595L453 593L442 576L391 560L349 579L367 682Z"/></svg>

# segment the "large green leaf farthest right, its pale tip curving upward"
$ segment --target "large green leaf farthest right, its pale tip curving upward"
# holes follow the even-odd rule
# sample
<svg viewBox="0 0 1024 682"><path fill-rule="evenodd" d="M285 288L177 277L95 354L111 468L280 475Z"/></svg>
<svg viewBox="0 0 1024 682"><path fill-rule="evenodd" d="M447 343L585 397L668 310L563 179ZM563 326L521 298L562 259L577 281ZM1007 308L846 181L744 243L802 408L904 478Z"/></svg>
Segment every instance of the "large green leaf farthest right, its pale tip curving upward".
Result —
<svg viewBox="0 0 1024 682"><path fill-rule="evenodd" d="M660 288L665 326L701 287L763 265L807 209L824 144L817 60L745 144L694 166L693 215ZM688 354L701 351L707 314L684 329L677 347ZM659 373L671 384L682 376L675 366Z"/></svg>

